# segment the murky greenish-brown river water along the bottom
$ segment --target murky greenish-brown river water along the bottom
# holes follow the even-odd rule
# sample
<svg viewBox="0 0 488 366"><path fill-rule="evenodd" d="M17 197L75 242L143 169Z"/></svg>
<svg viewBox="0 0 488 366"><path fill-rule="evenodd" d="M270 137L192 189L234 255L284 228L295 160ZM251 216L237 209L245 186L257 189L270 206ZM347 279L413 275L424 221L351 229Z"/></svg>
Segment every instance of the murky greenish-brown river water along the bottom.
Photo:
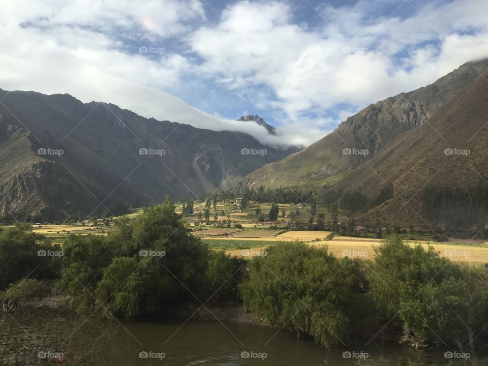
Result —
<svg viewBox="0 0 488 366"><path fill-rule="evenodd" d="M326 350L276 328L218 321L104 321L62 309L3 314L0 321L2 365L488 364L486 355L445 358L446 349L416 350L379 340Z"/></svg>

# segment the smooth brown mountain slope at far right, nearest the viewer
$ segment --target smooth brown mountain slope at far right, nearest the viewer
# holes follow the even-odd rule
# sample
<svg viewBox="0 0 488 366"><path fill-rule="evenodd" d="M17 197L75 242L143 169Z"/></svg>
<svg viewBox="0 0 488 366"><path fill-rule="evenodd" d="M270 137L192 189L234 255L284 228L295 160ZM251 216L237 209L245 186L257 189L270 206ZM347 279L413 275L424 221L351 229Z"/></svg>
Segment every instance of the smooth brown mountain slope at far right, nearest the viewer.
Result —
<svg viewBox="0 0 488 366"><path fill-rule="evenodd" d="M386 182L392 184L393 197L357 219L363 225L436 230L439 224L449 230L440 216L450 215L451 224L473 225L468 229L479 234L486 225L487 116L488 70L439 108L428 123L396 137L335 187L371 196ZM426 189L435 194L432 188L439 194L426 195ZM429 212L425 198L442 208L439 217Z"/></svg>

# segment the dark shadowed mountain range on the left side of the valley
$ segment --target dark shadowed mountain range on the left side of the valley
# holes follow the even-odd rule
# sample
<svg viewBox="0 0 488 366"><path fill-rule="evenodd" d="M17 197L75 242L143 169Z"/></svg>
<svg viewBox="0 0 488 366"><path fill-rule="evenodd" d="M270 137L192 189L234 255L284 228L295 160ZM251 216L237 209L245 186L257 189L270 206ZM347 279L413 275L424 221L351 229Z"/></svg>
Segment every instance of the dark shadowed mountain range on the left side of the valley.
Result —
<svg viewBox="0 0 488 366"><path fill-rule="evenodd" d="M66 94L0 89L0 210L9 217L60 220L193 196L295 151Z"/></svg>

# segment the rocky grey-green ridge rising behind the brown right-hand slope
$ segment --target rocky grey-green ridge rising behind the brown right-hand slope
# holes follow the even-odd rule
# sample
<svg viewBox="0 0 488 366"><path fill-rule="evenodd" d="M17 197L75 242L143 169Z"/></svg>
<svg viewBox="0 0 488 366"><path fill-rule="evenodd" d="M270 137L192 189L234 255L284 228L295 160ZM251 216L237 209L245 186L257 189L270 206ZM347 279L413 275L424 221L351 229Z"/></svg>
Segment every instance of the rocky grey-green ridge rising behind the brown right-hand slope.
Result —
<svg viewBox="0 0 488 366"><path fill-rule="evenodd" d="M306 149L252 172L241 185L316 189L333 184L396 136L423 125L486 68L488 59L466 63L429 86L371 104Z"/></svg>

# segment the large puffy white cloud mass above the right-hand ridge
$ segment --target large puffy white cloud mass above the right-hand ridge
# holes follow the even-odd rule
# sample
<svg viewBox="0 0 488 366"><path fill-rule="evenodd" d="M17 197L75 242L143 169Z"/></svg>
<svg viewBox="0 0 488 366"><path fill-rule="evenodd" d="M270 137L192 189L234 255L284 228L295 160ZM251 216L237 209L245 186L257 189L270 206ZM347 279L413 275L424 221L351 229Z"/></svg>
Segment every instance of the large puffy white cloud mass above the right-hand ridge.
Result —
<svg viewBox="0 0 488 366"><path fill-rule="evenodd" d="M415 89L475 54L488 56L487 34L481 32L486 20L479 15L488 11L484 1L427 4L405 19L395 14L371 18L371 5L321 7L324 25L310 31L291 23L293 15L283 20L292 6L243 1L225 10L217 27L194 32L190 44L205 60L201 72L238 76L239 87L269 86L277 97L269 107L285 111L295 122L311 109L321 113L342 103L365 106ZM250 22L249 14L259 14L257 22ZM480 27L474 36L455 33L473 27ZM441 39L445 46L460 38L457 47L472 41L476 51L446 54L432 44ZM402 50L407 55L396 59Z"/></svg>

